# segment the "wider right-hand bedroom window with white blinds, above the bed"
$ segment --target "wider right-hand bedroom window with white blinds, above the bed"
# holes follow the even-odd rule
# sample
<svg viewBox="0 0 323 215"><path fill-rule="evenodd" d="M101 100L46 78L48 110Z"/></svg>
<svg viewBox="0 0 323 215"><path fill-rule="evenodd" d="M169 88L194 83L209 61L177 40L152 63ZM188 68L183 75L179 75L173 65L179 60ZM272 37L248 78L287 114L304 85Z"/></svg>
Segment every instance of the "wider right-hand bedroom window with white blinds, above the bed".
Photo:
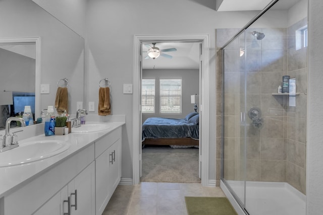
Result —
<svg viewBox="0 0 323 215"><path fill-rule="evenodd" d="M160 113L182 113L182 80L159 80Z"/></svg>

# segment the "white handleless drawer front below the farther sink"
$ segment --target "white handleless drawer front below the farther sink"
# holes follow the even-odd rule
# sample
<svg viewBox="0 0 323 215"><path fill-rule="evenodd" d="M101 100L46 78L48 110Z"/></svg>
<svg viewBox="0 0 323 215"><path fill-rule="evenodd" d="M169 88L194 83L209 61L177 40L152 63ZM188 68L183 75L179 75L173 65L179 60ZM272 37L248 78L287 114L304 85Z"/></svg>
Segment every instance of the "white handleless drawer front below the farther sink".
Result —
<svg viewBox="0 0 323 215"><path fill-rule="evenodd" d="M111 147L121 137L121 127L95 141L95 158Z"/></svg>

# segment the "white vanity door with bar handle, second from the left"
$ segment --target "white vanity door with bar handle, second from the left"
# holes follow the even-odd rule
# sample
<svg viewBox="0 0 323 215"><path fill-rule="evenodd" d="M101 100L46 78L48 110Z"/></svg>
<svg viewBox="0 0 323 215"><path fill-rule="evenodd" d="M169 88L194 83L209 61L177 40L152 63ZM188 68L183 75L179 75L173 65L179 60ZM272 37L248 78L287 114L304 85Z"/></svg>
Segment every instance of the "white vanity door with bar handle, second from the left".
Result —
<svg viewBox="0 0 323 215"><path fill-rule="evenodd" d="M71 215L95 215L95 165L92 162L68 184Z"/></svg>

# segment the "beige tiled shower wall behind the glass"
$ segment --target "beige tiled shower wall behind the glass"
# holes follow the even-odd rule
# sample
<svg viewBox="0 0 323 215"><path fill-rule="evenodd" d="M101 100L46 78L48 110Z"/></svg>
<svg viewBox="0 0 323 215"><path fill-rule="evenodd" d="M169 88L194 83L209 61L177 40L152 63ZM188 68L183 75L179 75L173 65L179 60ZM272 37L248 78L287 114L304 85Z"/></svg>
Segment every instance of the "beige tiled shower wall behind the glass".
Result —
<svg viewBox="0 0 323 215"><path fill-rule="evenodd" d="M227 180L288 182L305 193L305 131L306 131L306 48L295 49L295 29L306 19L288 29L247 29L225 51L225 94L223 94L222 54L220 48L238 29L217 29L217 184L221 177L221 142L223 126L222 99L225 96L225 165ZM251 34L265 34L256 40ZM286 36L288 35L288 36ZM246 43L246 55L239 56L239 47ZM243 59L243 60L241 60ZM244 126L240 126L241 101L246 70L246 110L258 107L264 120L257 128L246 116L246 142ZM282 77L296 78L296 107L289 107L288 96L274 96ZM242 92L242 94L241 94ZM244 147L246 164L244 164ZM247 167L244 174L242 168Z"/></svg>

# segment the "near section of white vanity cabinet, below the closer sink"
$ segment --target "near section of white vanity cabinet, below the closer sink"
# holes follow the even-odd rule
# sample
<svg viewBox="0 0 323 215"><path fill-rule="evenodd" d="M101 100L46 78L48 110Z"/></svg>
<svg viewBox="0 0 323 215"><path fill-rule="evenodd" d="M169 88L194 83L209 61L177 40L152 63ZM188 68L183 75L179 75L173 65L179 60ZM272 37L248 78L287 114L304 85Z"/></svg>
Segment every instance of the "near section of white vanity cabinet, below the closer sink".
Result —
<svg viewBox="0 0 323 215"><path fill-rule="evenodd" d="M77 190L77 196L72 194ZM94 144L4 198L4 214L95 214ZM77 210L75 210L75 198Z"/></svg>

